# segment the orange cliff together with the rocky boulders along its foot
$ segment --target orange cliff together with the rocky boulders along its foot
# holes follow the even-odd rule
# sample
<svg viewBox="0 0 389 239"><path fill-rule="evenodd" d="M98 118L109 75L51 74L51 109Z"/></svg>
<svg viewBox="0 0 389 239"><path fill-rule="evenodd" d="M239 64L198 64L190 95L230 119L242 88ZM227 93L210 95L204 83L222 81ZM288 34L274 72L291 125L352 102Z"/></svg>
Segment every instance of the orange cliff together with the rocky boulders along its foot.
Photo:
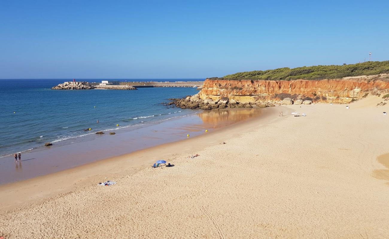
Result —
<svg viewBox="0 0 389 239"><path fill-rule="evenodd" d="M235 80L209 78L194 96L175 99L180 108L251 108L270 105L350 103L389 92L389 74L331 80Z"/></svg>

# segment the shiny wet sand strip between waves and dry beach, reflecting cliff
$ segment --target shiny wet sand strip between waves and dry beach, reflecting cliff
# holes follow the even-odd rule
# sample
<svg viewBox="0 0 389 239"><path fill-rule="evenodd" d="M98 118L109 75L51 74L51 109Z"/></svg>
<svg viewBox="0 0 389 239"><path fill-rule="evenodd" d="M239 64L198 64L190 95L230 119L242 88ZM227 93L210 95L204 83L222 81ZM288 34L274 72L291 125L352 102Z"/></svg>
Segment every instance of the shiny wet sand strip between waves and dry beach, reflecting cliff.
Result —
<svg viewBox="0 0 389 239"><path fill-rule="evenodd" d="M166 120L134 129L118 129L115 135L109 131L100 135L88 135L58 143L22 154L22 161L14 163L13 156L0 159L0 184L26 180L36 176L55 173L136 150L187 139L230 126L253 117L258 117L261 109L225 109L203 111L186 117Z"/></svg>

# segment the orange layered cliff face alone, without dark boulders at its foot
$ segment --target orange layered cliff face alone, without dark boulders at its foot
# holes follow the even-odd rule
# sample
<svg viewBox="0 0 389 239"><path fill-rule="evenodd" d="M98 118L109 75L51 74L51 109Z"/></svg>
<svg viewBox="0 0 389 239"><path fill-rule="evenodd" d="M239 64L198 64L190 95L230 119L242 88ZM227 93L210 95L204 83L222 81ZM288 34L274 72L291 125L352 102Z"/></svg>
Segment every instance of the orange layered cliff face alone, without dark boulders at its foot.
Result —
<svg viewBox="0 0 389 239"><path fill-rule="evenodd" d="M349 103L367 93L389 91L389 74L345 77L331 80L226 80L209 78L204 81L200 99L221 97L245 102L280 103L283 98L309 99L313 102Z"/></svg>

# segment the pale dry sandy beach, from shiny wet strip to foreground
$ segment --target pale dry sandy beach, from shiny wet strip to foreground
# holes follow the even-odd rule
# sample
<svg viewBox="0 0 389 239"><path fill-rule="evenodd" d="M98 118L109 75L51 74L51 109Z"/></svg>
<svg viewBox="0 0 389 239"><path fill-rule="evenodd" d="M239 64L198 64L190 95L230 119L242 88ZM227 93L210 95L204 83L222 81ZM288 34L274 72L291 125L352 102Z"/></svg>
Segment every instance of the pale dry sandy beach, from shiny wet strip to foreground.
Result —
<svg viewBox="0 0 389 239"><path fill-rule="evenodd" d="M4 185L0 236L388 238L380 101L266 108L230 129ZM151 168L160 158L175 166ZM96 185L105 177L117 184Z"/></svg>

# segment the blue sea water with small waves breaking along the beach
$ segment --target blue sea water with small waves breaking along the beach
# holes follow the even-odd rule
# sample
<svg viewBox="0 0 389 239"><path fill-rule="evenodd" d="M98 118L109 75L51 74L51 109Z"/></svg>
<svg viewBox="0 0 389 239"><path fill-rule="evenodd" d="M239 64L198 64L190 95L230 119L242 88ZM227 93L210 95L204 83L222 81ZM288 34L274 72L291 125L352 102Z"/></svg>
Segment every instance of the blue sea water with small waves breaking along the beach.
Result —
<svg viewBox="0 0 389 239"><path fill-rule="evenodd" d="M189 80L198 79L153 81ZM64 81L70 79L0 80L0 157L39 148L45 142L56 143L95 134L96 131L189 115L193 113L192 110L172 108L161 103L168 102L168 98L197 93L196 88L184 87L139 88L135 91L50 89ZM99 123L96 123L97 120ZM88 128L91 131L84 131Z"/></svg>

